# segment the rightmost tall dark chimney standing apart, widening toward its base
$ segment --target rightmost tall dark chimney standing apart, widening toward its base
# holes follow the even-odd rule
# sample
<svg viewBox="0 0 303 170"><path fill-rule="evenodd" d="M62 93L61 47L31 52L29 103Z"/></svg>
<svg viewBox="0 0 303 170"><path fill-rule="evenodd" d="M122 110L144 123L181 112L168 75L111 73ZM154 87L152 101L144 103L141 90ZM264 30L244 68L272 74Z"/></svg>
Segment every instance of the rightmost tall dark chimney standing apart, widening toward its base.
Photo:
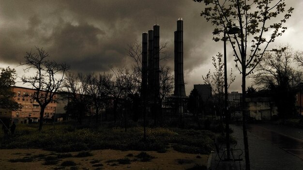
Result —
<svg viewBox="0 0 303 170"><path fill-rule="evenodd" d="M185 85L183 77L183 20L177 21L177 31L175 31L175 90L174 95L185 97Z"/></svg>

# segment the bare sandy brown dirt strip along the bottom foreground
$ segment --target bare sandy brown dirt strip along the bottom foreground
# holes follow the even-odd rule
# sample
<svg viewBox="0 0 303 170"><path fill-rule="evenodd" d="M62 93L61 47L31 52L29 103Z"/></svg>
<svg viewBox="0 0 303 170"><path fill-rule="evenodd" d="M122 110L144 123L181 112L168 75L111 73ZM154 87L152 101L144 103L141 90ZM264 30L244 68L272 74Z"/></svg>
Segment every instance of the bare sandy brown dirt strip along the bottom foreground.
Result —
<svg viewBox="0 0 303 170"><path fill-rule="evenodd" d="M168 149L166 153L154 151L146 152L154 156L149 162L134 160L135 156L128 156L130 164L106 162L108 160L122 159L128 154L138 155L140 151L93 150L92 156L74 157L78 152L71 152L73 157L61 158L55 165L44 165L45 157L56 156L56 152L41 149L2 149L0 150L0 170L186 170L196 164L207 164L208 155L184 154ZM29 162L14 162L12 160L30 157ZM182 159L183 164L178 163ZM61 166L64 161L74 161L75 166ZM94 161L94 162L92 162Z"/></svg>

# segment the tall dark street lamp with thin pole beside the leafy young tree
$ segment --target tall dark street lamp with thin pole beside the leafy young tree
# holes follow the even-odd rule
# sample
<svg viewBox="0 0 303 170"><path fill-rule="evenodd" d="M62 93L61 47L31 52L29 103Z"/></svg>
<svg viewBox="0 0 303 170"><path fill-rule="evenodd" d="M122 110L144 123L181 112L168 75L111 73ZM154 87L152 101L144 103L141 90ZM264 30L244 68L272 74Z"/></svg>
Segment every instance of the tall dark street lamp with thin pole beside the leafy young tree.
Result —
<svg viewBox="0 0 303 170"><path fill-rule="evenodd" d="M227 93L227 59L226 59L226 33L227 34L237 34L239 33L240 29L237 27L230 27L228 30L224 30L224 113L225 113L225 120L226 120L226 149L227 149L227 159L230 159L230 145L229 145L229 111L228 111L228 93Z"/></svg>

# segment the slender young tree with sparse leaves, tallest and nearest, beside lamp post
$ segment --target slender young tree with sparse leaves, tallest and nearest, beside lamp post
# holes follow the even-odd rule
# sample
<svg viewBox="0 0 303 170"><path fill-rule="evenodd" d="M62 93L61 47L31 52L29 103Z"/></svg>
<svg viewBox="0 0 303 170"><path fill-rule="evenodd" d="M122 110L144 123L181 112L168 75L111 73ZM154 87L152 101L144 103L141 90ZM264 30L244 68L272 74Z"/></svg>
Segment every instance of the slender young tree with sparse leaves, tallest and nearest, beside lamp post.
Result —
<svg viewBox="0 0 303 170"><path fill-rule="evenodd" d="M213 40L228 40L231 43L236 66L242 74L243 142L245 166L246 170L250 170L245 111L246 76L258 65L269 44L285 32L287 28L283 27L283 23L291 16L293 8L285 11L284 0L194 1L207 5L201 15L215 27ZM276 23L269 21L276 17L280 17ZM219 38L221 32L224 36Z"/></svg>

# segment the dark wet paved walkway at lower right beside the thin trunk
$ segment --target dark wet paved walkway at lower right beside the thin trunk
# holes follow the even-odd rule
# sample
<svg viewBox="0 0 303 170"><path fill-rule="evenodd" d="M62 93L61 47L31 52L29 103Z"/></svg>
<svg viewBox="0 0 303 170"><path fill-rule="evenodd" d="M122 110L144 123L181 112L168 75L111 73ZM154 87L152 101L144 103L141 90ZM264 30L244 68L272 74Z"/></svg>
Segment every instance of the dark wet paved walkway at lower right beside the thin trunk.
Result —
<svg viewBox="0 0 303 170"><path fill-rule="evenodd" d="M244 151L242 126L231 125L231 128L234 130L232 135L238 141L236 148ZM248 144L251 170L303 170L303 160L300 158L303 150L301 130L287 126L250 124ZM212 170L215 170L218 162L214 160L215 155L212 156ZM244 160L241 168L245 169ZM240 166L238 162L223 162L217 170L240 170Z"/></svg>

